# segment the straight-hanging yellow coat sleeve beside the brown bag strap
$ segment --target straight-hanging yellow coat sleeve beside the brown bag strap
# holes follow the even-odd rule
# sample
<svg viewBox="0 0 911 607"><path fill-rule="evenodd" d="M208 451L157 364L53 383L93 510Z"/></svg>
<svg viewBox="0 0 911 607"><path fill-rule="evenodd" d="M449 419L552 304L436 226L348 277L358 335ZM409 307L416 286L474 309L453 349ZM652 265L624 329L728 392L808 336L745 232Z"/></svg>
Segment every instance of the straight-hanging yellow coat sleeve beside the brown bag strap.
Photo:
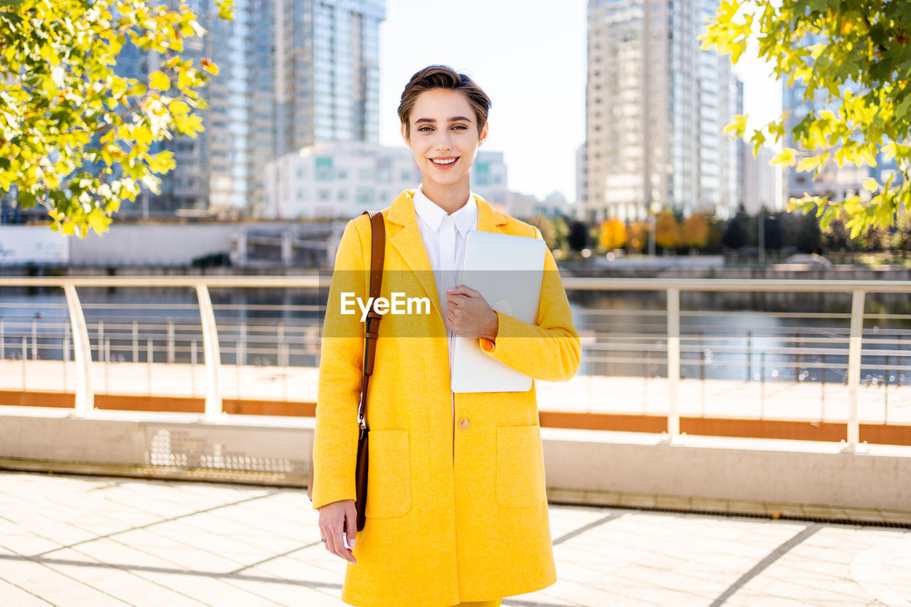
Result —
<svg viewBox="0 0 911 607"><path fill-rule="evenodd" d="M348 222L335 255L335 269L322 325L320 378L313 431L313 509L340 499L355 499L357 406L363 375L363 324L360 313L341 314L342 294L366 300L368 273L363 216ZM353 306L356 311L357 305Z"/></svg>

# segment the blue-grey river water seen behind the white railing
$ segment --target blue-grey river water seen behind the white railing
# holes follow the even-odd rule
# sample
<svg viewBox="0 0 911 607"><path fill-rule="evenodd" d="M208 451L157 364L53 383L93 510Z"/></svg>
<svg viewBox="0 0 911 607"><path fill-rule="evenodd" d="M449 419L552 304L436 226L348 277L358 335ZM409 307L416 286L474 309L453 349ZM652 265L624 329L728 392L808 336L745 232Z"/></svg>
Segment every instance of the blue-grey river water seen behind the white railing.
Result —
<svg viewBox="0 0 911 607"><path fill-rule="evenodd" d="M183 288L80 288L93 359L202 362L196 293ZM326 292L210 289L221 362L318 364ZM570 292L585 354L583 375L666 376L664 293ZM868 294L862 380L911 383L911 302ZM844 383L849 293L681 293L681 376ZM0 289L0 355L61 360L67 305L59 288ZM135 323L135 324L134 324ZM106 340L109 348L106 352ZM194 344L195 343L195 344ZM905 354L905 353L908 354ZM109 353L109 354L108 354Z"/></svg>

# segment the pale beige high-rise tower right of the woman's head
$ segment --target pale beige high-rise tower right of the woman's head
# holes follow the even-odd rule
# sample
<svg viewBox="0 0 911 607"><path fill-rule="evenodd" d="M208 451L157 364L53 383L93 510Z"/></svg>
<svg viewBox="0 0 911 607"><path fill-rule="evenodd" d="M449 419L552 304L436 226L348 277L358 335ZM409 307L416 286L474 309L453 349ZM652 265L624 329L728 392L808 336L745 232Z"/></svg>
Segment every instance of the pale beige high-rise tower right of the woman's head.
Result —
<svg viewBox="0 0 911 607"><path fill-rule="evenodd" d="M729 57L697 40L717 0L589 0L583 204L589 220L735 210Z"/></svg>

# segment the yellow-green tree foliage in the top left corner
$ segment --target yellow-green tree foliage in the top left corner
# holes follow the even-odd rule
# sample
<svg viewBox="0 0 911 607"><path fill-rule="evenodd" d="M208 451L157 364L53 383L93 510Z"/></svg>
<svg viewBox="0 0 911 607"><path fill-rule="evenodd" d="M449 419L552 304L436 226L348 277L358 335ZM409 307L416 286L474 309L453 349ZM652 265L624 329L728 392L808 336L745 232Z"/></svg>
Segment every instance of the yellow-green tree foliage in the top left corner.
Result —
<svg viewBox="0 0 911 607"><path fill-rule="evenodd" d="M231 18L232 0L217 0ZM170 151L150 153L174 134L196 136L206 72L180 57L205 30L188 5L158 0L0 2L0 191L15 187L24 209L40 204L52 230L107 230L120 201L142 185L159 191ZM147 77L118 76L120 49L149 51Z"/></svg>

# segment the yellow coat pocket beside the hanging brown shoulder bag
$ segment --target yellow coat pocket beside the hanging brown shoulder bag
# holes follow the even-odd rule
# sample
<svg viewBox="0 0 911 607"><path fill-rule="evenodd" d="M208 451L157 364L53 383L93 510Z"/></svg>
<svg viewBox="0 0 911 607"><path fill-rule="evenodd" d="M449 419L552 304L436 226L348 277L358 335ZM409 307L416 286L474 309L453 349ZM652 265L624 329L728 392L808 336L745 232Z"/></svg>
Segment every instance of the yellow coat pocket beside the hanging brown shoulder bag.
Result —
<svg viewBox="0 0 911 607"><path fill-rule="evenodd" d="M408 430L367 434L367 504L372 519L403 516L411 509L411 448Z"/></svg>

